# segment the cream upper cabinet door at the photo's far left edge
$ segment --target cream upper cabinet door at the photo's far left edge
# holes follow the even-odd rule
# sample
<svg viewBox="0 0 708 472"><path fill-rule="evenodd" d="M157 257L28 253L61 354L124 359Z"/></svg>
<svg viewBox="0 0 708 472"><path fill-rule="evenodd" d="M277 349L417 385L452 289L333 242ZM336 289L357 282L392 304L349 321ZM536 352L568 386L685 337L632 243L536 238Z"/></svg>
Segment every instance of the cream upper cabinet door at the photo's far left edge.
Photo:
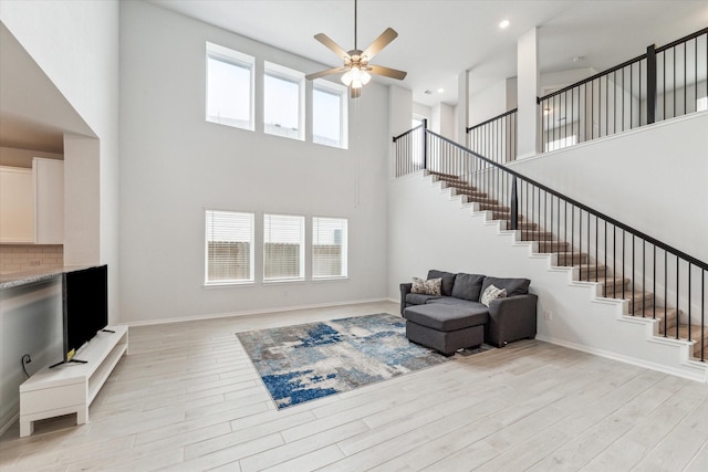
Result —
<svg viewBox="0 0 708 472"><path fill-rule="evenodd" d="M0 243L34 242L32 169L0 166Z"/></svg>

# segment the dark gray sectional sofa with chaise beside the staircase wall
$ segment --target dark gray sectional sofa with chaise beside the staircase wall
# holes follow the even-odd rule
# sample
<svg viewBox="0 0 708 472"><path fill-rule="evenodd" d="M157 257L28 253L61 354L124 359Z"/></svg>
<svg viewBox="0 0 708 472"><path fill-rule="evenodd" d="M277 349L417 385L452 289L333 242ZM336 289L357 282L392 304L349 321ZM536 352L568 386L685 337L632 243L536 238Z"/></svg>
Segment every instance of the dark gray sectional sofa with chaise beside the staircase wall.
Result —
<svg viewBox="0 0 708 472"><path fill-rule="evenodd" d="M482 340L502 347L535 337L538 297L529 293L528 279L438 270L428 272L428 280L431 279L441 279L440 295L412 293L412 283L400 284L400 314L406 318L410 340L449 355ZM490 285L504 289L507 296L486 306L480 296Z"/></svg>

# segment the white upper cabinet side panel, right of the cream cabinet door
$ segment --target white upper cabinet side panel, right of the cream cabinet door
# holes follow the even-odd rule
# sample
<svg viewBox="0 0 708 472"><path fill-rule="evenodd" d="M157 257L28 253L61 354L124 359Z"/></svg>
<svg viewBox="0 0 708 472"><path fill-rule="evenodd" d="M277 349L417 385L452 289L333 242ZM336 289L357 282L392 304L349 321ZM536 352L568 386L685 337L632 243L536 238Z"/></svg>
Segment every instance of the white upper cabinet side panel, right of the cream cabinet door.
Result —
<svg viewBox="0 0 708 472"><path fill-rule="evenodd" d="M35 157L34 176L34 242L64 243L64 161Z"/></svg>

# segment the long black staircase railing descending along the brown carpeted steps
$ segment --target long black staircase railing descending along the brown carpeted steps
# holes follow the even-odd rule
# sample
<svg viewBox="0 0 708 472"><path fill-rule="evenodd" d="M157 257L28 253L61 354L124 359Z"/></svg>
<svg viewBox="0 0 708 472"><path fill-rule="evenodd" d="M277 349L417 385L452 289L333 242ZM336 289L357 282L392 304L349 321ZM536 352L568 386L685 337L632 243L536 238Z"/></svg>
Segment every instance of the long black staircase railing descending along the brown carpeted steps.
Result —
<svg viewBox="0 0 708 472"><path fill-rule="evenodd" d="M577 280L598 283L601 295L628 300L629 315L660 319L660 335L696 342L695 357L706 359L708 263L440 135L421 133L426 170L493 211L523 240L537 241L539 252L555 254L558 265L573 266ZM404 136L394 138L397 169L421 170L417 161L403 164L410 148Z"/></svg>

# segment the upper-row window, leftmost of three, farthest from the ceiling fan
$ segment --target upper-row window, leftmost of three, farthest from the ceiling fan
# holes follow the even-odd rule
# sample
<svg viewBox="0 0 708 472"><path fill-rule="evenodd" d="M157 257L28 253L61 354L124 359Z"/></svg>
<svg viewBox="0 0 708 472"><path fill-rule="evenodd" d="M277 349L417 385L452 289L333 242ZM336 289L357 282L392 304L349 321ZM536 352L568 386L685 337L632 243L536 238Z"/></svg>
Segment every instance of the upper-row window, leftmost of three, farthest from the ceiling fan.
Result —
<svg viewBox="0 0 708 472"><path fill-rule="evenodd" d="M207 43L207 120L253 130L254 59Z"/></svg>

